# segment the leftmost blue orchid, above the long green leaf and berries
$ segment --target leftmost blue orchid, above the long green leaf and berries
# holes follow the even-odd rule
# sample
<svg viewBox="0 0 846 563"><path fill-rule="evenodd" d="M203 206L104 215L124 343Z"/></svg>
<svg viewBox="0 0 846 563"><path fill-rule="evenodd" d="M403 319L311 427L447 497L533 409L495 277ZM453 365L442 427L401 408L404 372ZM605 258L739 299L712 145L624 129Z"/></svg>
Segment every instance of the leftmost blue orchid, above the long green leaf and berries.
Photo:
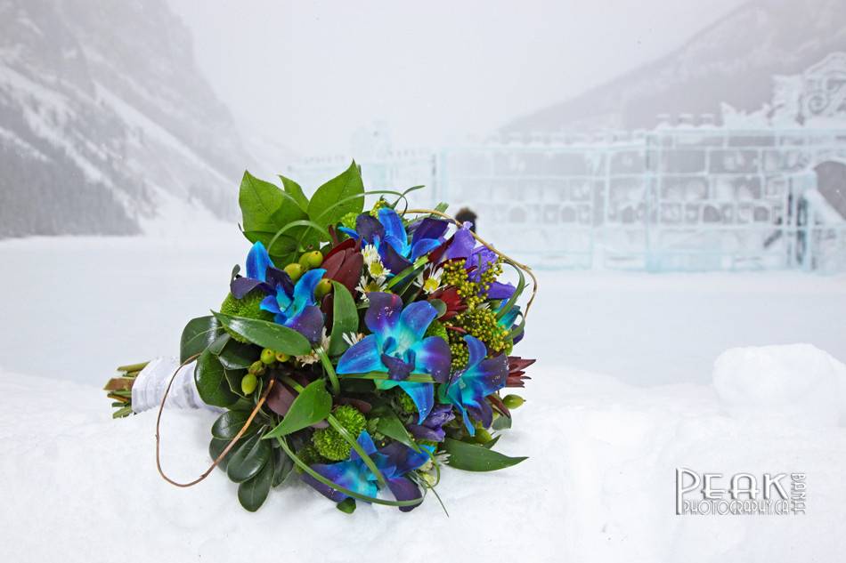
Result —
<svg viewBox="0 0 846 563"><path fill-rule="evenodd" d="M280 325L293 328L309 342L320 342L323 313L314 299L314 288L326 273L325 269L310 269L297 281L297 285L279 283L273 295L268 295L260 307L272 312Z"/></svg>

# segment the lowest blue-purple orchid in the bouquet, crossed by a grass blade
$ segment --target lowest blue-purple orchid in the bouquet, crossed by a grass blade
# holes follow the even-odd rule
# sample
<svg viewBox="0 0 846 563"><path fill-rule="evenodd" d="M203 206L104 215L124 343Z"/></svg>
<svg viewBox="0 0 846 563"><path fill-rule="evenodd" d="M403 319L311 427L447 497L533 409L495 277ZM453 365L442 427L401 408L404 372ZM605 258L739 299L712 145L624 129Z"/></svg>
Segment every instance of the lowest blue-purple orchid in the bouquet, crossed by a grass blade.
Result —
<svg viewBox="0 0 846 563"><path fill-rule="evenodd" d="M418 486L405 475L426 463L429 460L429 454L434 453L434 448L421 446L421 451L415 452L411 447L404 446L399 442L392 442L390 445L377 450L367 430L362 431L356 441L362 446L362 450L370 456L378 470L381 471L387 487L391 489L391 493L394 494L396 500L412 501L422 498ZM426 451L422 451L424 449ZM315 463L311 468L336 485L345 487L359 495L376 497L378 494L376 475L370 471L370 468L355 450L350 454L350 458L344 462ZM340 503L347 498L346 494L324 485L308 473L303 473L302 479L317 489L321 495L336 503ZM418 504L401 506L400 510L408 512L417 506Z"/></svg>

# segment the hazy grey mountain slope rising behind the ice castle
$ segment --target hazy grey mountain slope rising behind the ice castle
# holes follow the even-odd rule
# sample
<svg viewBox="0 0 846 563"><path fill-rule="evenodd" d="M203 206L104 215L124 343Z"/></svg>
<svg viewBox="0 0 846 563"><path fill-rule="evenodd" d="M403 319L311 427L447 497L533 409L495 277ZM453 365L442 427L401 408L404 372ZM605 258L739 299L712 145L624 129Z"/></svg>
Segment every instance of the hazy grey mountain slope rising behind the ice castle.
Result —
<svg viewBox="0 0 846 563"><path fill-rule="evenodd" d="M662 59L503 131L650 128L658 114L719 115L720 102L755 110L770 100L774 75L801 73L834 51L846 51L843 0L755 0Z"/></svg>

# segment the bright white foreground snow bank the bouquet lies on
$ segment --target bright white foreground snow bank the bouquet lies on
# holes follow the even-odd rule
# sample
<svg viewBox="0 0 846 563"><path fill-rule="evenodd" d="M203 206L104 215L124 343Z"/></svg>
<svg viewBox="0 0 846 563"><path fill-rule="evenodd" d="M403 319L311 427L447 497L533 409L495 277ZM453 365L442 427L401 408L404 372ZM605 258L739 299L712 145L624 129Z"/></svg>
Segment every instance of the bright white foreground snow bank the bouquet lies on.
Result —
<svg viewBox="0 0 846 563"><path fill-rule="evenodd" d="M449 518L434 498L409 514L360 504L347 516L298 482L250 514L219 471L188 489L159 478L155 412L113 421L97 388L0 371L0 560L777 563L846 551L846 430L740 421L711 386L644 390L535 367L498 446L530 459L490 474L444 471ZM213 419L166 412L172 477L207 467ZM677 467L804 471L808 513L676 516Z"/></svg>

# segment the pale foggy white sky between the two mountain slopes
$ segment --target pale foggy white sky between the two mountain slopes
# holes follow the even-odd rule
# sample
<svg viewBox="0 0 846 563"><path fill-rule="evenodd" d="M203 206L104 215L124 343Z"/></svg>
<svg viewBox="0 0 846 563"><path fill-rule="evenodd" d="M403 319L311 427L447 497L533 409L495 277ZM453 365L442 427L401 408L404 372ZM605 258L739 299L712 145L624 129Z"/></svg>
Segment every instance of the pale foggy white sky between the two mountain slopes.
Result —
<svg viewBox="0 0 846 563"><path fill-rule="evenodd" d="M278 2L168 0L245 133L300 156L356 127L448 143L653 60L741 0Z"/></svg>

